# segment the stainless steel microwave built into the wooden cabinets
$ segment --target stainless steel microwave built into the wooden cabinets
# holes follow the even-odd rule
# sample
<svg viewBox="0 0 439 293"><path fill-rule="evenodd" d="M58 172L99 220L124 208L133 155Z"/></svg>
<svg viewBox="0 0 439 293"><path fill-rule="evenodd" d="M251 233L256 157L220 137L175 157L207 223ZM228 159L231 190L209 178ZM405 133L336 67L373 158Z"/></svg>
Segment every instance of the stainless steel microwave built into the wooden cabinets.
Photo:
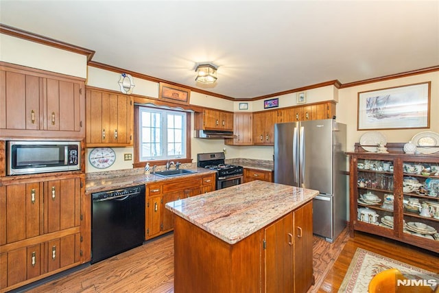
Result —
<svg viewBox="0 0 439 293"><path fill-rule="evenodd" d="M7 141L7 174L81 169L80 141Z"/></svg>

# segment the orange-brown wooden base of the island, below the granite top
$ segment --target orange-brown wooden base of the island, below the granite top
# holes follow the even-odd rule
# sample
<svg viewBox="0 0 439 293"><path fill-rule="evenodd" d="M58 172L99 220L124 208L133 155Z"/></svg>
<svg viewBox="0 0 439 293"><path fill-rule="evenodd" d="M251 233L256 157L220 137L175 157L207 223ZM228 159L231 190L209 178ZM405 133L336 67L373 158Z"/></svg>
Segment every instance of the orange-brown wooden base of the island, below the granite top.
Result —
<svg viewBox="0 0 439 293"><path fill-rule="evenodd" d="M174 218L174 290L307 292L313 283L312 201L235 244Z"/></svg>

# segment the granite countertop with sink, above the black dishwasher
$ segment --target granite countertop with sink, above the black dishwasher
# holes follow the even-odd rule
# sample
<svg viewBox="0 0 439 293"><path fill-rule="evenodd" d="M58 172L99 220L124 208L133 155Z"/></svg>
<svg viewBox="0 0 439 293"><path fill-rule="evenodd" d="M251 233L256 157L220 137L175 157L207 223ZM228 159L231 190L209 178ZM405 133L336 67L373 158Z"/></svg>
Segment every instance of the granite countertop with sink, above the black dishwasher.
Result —
<svg viewBox="0 0 439 293"><path fill-rule="evenodd" d="M186 168L185 168L186 169ZM128 169L128 171L108 172L104 175L94 176L87 174L85 182L85 193L92 194L93 192L116 190L137 185L145 185L147 183L156 183L167 180L175 180L178 178L190 178L200 174L216 173L216 171L204 168L192 168L195 171L193 174L185 174L182 176L161 177L154 174L143 174L143 168Z"/></svg>

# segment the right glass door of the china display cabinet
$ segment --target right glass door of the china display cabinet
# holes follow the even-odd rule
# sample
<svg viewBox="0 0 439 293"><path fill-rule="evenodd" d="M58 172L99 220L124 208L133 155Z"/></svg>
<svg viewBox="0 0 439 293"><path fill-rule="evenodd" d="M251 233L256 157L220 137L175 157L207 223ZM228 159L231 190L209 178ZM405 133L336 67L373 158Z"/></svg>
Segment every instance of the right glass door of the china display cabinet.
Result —
<svg viewBox="0 0 439 293"><path fill-rule="evenodd" d="M438 245L438 196L439 163L403 161L403 237Z"/></svg>

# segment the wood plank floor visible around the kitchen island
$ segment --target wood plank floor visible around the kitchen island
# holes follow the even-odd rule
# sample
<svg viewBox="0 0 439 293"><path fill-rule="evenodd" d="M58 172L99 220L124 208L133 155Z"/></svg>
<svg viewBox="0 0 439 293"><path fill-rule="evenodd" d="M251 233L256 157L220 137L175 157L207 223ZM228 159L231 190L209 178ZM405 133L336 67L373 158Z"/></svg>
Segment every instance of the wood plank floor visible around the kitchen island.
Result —
<svg viewBox="0 0 439 293"><path fill-rule="evenodd" d="M355 238L351 238L345 229L333 244L313 237L316 284L309 293L337 292L357 247L439 274L436 253L366 233L355 233ZM29 292L174 292L173 234L152 239Z"/></svg>

